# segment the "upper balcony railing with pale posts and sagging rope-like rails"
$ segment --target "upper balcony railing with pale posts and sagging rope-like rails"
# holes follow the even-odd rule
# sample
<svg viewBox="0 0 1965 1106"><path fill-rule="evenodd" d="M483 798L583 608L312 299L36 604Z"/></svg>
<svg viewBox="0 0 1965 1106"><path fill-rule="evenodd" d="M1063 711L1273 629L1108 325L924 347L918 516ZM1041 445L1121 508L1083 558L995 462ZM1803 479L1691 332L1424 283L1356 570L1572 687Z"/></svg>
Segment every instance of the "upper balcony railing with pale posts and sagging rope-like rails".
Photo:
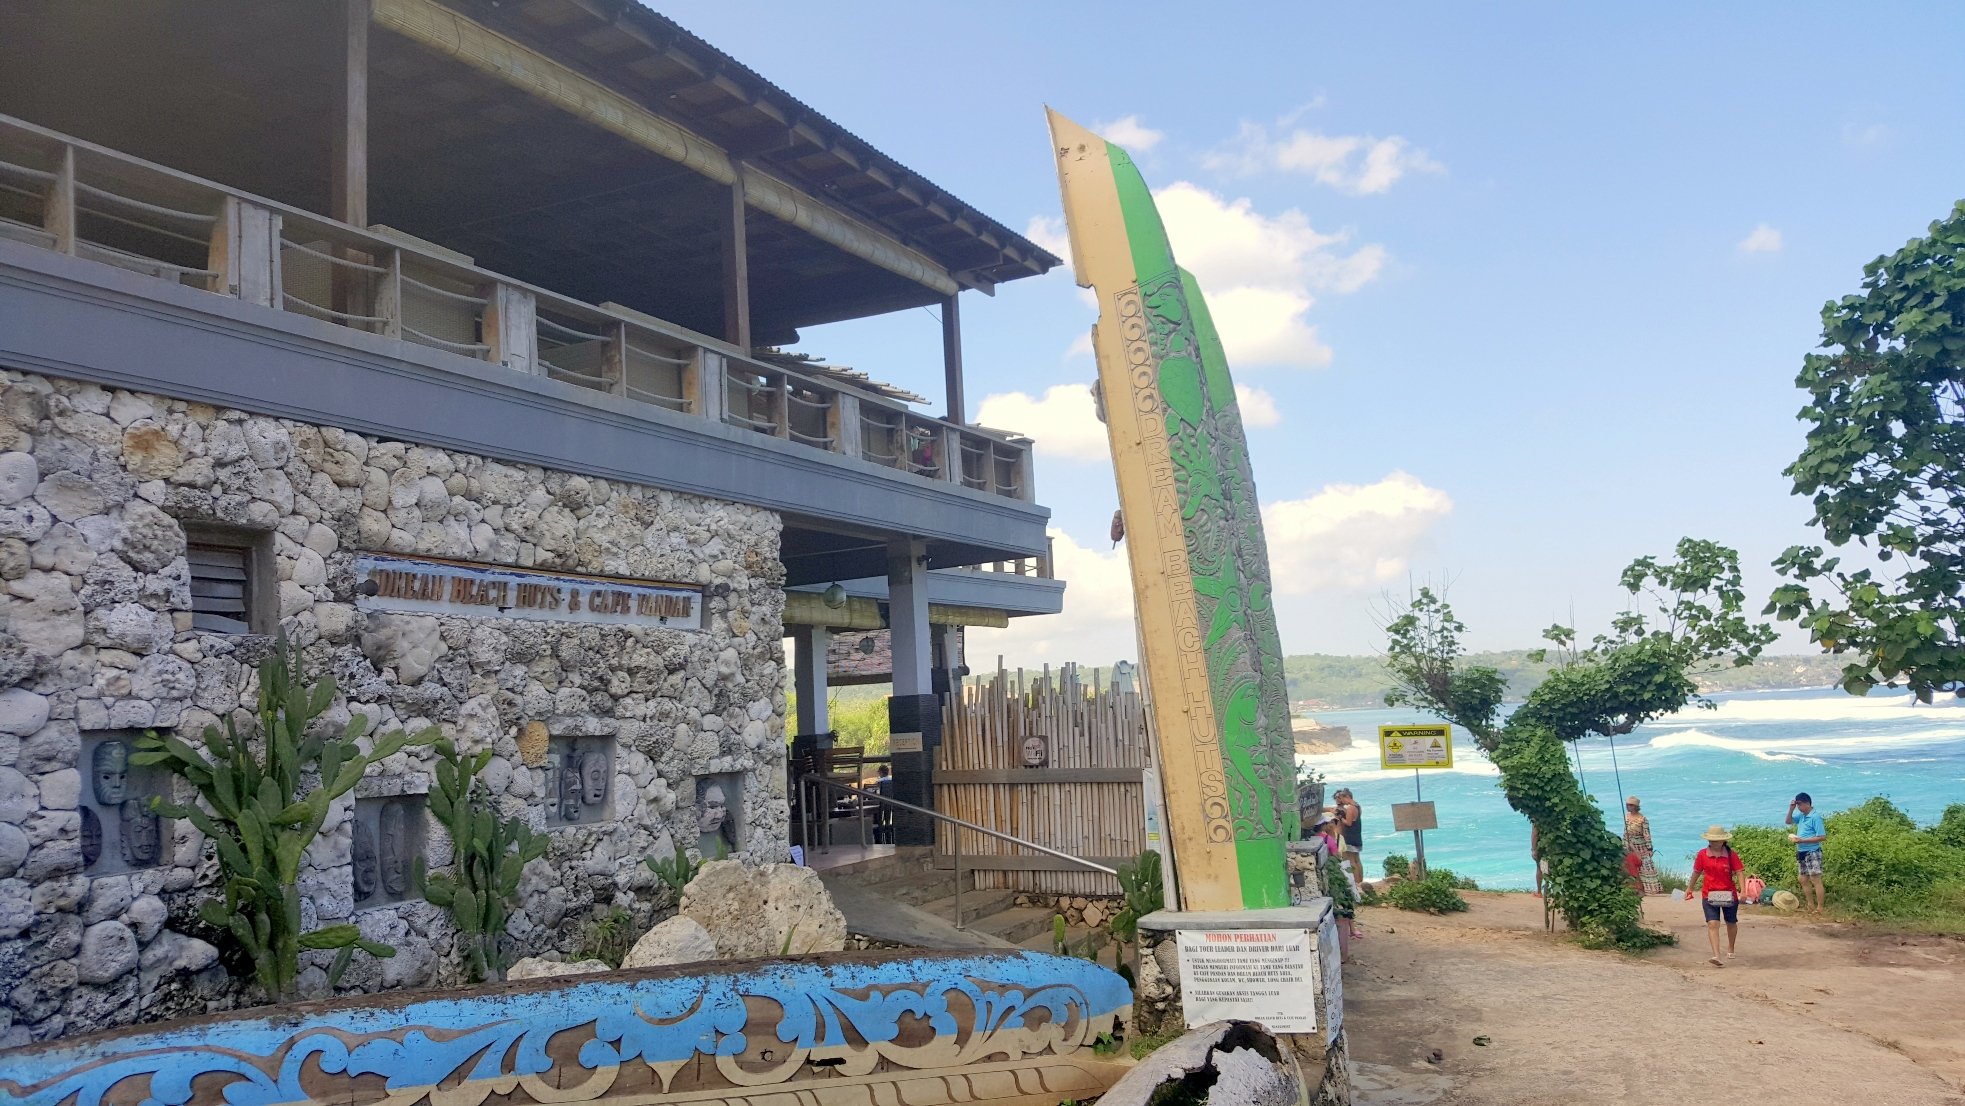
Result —
<svg viewBox="0 0 1965 1106"><path fill-rule="evenodd" d="M1034 499L1030 442L929 418L639 310L588 304L0 116L0 238L870 462Z"/></svg>

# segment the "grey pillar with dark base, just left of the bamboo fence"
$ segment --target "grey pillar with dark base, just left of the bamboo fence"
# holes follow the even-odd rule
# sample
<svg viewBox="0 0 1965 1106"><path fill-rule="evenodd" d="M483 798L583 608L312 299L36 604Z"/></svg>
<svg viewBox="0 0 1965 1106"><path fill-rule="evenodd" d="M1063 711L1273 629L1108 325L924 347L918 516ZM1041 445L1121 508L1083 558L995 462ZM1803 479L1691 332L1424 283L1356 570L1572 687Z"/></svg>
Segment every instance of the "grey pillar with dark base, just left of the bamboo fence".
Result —
<svg viewBox="0 0 1965 1106"><path fill-rule="evenodd" d="M927 546L898 540L886 546L886 623L894 654L894 695L886 725L894 733L894 798L935 805L935 747L941 745L941 697L935 695L927 627ZM920 737L912 737L920 735ZM896 845L933 845L933 821L894 811Z"/></svg>

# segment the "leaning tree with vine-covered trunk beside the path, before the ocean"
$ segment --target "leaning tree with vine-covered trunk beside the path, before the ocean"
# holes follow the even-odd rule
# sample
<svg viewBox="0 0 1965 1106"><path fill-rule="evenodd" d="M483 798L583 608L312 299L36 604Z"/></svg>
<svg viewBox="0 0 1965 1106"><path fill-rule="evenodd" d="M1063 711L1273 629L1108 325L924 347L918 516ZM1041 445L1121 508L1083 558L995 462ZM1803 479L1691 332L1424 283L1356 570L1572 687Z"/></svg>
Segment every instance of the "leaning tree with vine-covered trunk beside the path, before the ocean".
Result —
<svg viewBox="0 0 1965 1106"><path fill-rule="evenodd" d="M1749 664L1774 640L1743 615L1739 554L1704 540L1678 542L1676 560L1639 558L1619 580L1631 595L1611 631L1578 644L1570 627L1550 627L1556 664L1507 719L1507 682L1468 664L1466 627L1431 587L1385 627L1385 668L1397 690L1387 705L1413 705L1474 737L1501 770L1509 805L1525 813L1548 860L1548 900L1586 941L1617 947L1668 943L1647 929L1623 876L1623 841L1570 774L1564 743L1615 737L1678 711L1698 697L1692 674L1723 658Z"/></svg>

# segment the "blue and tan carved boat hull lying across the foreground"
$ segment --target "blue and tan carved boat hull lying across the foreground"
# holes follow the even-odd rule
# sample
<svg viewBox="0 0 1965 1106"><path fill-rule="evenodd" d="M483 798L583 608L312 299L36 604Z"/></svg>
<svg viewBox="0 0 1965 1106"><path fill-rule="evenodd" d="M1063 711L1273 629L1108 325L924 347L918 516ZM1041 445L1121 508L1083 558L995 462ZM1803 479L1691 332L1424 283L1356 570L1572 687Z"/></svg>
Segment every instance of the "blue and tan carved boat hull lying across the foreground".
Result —
<svg viewBox="0 0 1965 1106"><path fill-rule="evenodd" d="M1130 1004L1118 974L1038 953L694 965L47 1041L0 1053L0 1100L1051 1106L1126 1071L1093 1045Z"/></svg>

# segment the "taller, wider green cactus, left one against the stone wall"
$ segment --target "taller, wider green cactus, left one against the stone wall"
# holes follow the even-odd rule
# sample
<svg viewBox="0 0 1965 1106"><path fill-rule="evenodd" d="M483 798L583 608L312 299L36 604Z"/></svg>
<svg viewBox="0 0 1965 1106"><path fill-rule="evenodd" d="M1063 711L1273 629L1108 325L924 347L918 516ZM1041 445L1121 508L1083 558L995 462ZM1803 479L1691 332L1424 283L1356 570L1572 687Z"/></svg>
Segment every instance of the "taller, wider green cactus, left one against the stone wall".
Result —
<svg viewBox="0 0 1965 1106"><path fill-rule="evenodd" d="M198 805L163 798L151 809L189 819L218 849L224 898L198 906L198 917L230 933L246 949L253 978L271 1002L299 998L301 949L338 949L328 986L340 980L356 949L393 957L395 949L362 939L354 925L301 929L301 857L320 835L328 805L348 794L369 764L395 756L409 745L430 745L436 727L419 735L393 731L367 737L367 719L356 715L338 737L309 737L309 727L334 701L334 680L309 682L301 650L285 638L259 662L259 741L226 719L224 731L206 727L198 750L177 735L155 731L138 739L134 764L159 764L196 788ZM303 788L318 780L312 790Z"/></svg>

